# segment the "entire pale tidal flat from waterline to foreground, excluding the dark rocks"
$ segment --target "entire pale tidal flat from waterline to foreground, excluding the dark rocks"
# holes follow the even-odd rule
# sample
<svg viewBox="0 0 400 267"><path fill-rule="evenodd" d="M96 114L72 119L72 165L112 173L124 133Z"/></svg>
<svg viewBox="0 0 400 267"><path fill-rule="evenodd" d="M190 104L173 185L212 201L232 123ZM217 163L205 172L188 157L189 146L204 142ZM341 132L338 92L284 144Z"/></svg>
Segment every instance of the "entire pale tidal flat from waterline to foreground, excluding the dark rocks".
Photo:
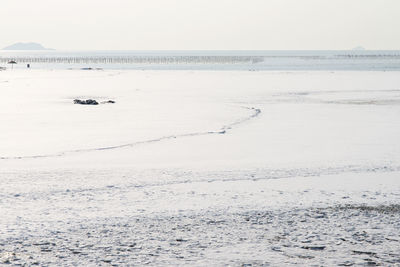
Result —
<svg viewBox="0 0 400 267"><path fill-rule="evenodd" d="M2 264L400 265L399 71L8 69L0 99Z"/></svg>

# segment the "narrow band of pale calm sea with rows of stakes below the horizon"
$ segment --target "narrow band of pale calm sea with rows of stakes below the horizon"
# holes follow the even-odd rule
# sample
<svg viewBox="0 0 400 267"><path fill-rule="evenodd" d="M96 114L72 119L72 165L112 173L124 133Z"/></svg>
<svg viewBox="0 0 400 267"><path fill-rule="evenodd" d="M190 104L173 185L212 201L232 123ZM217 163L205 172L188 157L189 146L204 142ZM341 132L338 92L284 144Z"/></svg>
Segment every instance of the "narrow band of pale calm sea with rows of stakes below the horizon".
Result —
<svg viewBox="0 0 400 267"><path fill-rule="evenodd" d="M400 70L400 50L0 51L0 66L36 69Z"/></svg>

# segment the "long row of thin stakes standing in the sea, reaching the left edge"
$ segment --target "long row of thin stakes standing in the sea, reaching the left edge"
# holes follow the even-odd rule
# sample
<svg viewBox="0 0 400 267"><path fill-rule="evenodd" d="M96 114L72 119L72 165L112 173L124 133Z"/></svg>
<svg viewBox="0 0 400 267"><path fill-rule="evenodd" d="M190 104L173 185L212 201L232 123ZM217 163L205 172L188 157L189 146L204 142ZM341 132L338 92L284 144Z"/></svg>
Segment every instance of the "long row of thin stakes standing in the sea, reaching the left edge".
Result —
<svg viewBox="0 0 400 267"><path fill-rule="evenodd" d="M0 56L0 63L16 61L47 64L243 64L263 60L263 57L259 56Z"/></svg>

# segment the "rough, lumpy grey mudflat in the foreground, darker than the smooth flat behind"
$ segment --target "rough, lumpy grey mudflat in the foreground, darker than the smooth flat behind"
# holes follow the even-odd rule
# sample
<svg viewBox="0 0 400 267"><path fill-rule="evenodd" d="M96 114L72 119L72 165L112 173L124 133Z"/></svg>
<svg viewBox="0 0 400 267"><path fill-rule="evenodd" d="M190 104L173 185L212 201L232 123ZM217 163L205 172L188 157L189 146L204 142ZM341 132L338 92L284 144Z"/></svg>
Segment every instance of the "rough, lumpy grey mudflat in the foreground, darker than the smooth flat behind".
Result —
<svg viewBox="0 0 400 267"><path fill-rule="evenodd" d="M82 221L1 240L1 260L38 265L396 265L400 207L198 212ZM61 226L61 225L59 225Z"/></svg>

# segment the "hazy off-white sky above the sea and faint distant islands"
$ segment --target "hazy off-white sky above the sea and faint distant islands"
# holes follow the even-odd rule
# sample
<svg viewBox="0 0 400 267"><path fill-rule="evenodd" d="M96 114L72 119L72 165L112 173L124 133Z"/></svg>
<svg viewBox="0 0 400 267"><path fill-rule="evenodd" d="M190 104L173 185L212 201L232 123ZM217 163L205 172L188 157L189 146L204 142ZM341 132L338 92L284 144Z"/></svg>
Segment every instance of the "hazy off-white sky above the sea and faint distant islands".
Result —
<svg viewBox="0 0 400 267"><path fill-rule="evenodd" d="M400 49L400 0L1 0L0 47Z"/></svg>

